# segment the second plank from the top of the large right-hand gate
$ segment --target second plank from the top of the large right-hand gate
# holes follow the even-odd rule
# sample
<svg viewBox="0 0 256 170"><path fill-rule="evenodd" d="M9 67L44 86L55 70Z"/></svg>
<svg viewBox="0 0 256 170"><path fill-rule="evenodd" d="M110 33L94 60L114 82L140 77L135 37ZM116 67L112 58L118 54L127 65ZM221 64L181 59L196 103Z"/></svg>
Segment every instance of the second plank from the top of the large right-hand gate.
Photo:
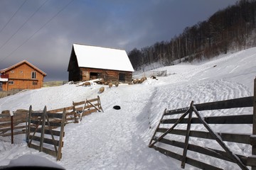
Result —
<svg viewBox="0 0 256 170"><path fill-rule="evenodd" d="M227 115L227 116L213 116L204 117L204 120L208 124L252 124L253 115ZM174 124L178 119L163 119L162 124ZM181 123L188 123L188 119L184 118ZM200 124L199 118L192 118L191 123Z"/></svg>

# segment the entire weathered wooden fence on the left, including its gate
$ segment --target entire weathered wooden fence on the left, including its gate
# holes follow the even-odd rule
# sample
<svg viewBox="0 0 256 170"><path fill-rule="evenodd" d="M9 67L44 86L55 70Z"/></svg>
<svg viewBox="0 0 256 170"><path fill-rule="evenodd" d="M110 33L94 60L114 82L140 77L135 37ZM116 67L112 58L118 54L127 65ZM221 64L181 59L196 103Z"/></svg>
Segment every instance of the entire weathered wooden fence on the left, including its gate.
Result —
<svg viewBox="0 0 256 170"><path fill-rule="evenodd" d="M57 160L61 159L63 147L64 125L78 123L82 116L102 111L100 97L90 100L73 102L73 106L46 111L17 110L2 111L0 114L0 136L11 136L14 143L14 135L26 134L28 147L45 152Z"/></svg>

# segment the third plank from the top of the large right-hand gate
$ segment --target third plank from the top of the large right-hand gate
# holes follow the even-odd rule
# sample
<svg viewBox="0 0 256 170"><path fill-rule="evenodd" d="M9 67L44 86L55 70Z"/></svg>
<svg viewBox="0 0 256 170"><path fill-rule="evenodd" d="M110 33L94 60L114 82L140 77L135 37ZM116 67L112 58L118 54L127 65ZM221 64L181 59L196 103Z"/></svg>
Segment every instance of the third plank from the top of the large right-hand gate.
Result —
<svg viewBox="0 0 256 170"><path fill-rule="evenodd" d="M166 132L168 128L159 128L157 132ZM186 130L172 130L169 132L169 134L174 134L174 135L186 135ZM242 144L247 144L250 145L250 134L239 134L239 133L223 133L223 132L217 132L218 135L222 138L223 141L227 142L237 142L237 143L242 143ZM208 139L208 140L213 140L213 137L210 135L209 132L203 132L203 131L195 131L191 130L190 132L191 137L199 137L203 139Z"/></svg>

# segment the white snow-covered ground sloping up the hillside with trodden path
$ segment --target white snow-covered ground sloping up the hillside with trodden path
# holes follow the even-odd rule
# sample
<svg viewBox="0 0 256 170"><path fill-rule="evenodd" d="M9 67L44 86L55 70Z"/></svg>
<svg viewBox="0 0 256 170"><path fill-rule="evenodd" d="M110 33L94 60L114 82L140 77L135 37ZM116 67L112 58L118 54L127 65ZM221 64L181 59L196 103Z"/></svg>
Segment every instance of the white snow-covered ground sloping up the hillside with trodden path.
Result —
<svg viewBox="0 0 256 170"><path fill-rule="evenodd" d="M1 98L0 111L16 111L28 109L30 105L33 110L43 110L44 106L48 110L63 108L71 106L73 101L100 96L104 113L92 113L80 123L65 125L63 157L59 162L55 157L28 148L22 137L16 137L15 145L0 138L0 166L9 164L11 159L33 154L50 159L65 169L181 169L181 162L148 147L164 109L188 107L192 100L204 103L253 96L256 48L216 57L215 60L159 69L166 69L170 76L112 89L105 86L102 94L98 94L101 85L65 84ZM114 110L115 105L121 106L121 110ZM252 108L235 111L251 113ZM208 114L219 115L220 112ZM251 128L248 125L239 129L240 132L252 132ZM232 132L231 128L221 130ZM230 144L230 147L245 155L251 152L247 145ZM238 169L234 164L205 159L210 164L220 164L223 169ZM186 164L186 169L195 168Z"/></svg>

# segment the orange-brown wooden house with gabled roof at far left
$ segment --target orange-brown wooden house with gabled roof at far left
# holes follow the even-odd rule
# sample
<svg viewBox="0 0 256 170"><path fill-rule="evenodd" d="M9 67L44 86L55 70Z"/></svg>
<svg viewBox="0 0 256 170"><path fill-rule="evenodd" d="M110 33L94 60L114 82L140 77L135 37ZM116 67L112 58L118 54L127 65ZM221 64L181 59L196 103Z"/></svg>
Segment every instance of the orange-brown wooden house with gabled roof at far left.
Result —
<svg viewBox="0 0 256 170"><path fill-rule="evenodd" d="M1 69L3 91L12 89L40 89L46 73L30 62L23 60L6 69Z"/></svg>

